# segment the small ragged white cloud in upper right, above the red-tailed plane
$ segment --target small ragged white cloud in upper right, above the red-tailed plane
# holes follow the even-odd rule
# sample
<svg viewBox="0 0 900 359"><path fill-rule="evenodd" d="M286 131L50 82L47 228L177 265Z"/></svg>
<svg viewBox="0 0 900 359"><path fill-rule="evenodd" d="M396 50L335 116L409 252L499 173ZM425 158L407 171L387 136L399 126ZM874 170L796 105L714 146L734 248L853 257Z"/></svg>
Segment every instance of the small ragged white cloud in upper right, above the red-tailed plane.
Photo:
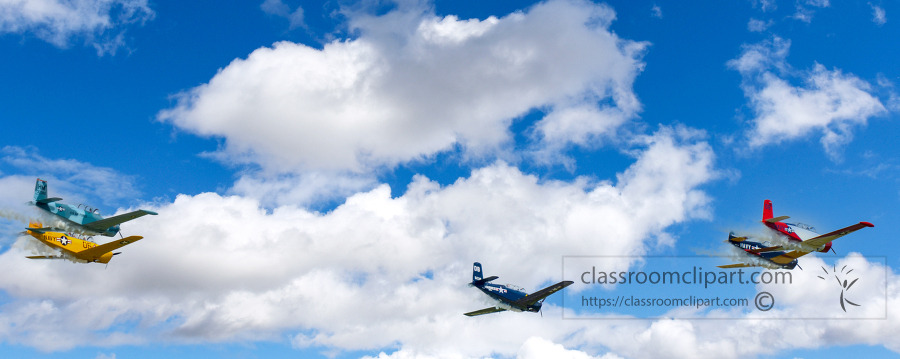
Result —
<svg viewBox="0 0 900 359"><path fill-rule="evenodd" d="M853 74L821 64L807 71L791 69L785 61L789 48L790 41L775 37L745 45L741 56L728 63L743 76L741 87L755 113L747 132L749 146L821 133L825 151L839 160L840 149L853 139L852 129L887 109L872 94L872 86ZM791 84L794 76L803 85Z"/></svg>

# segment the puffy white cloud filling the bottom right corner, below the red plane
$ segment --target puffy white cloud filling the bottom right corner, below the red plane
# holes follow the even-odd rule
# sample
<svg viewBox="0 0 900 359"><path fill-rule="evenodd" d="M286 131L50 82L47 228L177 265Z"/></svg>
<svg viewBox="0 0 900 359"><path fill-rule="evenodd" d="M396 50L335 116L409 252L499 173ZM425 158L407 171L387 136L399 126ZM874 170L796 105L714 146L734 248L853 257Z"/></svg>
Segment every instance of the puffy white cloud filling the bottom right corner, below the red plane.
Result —
<svg viewBox="0 0 900 359"><path fill-rule="evenodd" d="M593 325L566 343L596 343L628 358L753 358L792 349L855 344L883 345L900 352L896 339L900 335L900 315L888 309L900 305L900 277L891 268L855 254L833 265L805 257L801 265L806 270L794 271L791 285L765 289L757 286L757 290L769 291L778 301L769 312L729 315L740 320L661 319ZM822 274L824 267L830 275ZM844 276L842 268L853 272ZM842 289L834 274L851 281L859 278L844 291L846 298L859 307L848 308L847 312L841 309ZM869 319L845 319L848 317Z"/></svg>

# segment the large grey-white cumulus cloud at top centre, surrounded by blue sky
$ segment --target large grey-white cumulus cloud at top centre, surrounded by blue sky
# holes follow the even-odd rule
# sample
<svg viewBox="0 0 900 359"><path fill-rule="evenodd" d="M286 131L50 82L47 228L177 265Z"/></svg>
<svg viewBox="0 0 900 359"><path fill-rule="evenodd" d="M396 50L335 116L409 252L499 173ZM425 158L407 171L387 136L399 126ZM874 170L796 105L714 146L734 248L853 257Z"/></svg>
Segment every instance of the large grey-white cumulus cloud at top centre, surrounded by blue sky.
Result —
<svg viewBox="0 0 900 359"><path fill-rule="evenodd" d="M530 132L539 151L590 146L641 108L632 83L647 44L610 32L614 19L579 0L484 20L402 4L354 13L358 37L260 48L158 117L275 172L364 172L454 146L496 154L534 109L547 113Z"/></svg>

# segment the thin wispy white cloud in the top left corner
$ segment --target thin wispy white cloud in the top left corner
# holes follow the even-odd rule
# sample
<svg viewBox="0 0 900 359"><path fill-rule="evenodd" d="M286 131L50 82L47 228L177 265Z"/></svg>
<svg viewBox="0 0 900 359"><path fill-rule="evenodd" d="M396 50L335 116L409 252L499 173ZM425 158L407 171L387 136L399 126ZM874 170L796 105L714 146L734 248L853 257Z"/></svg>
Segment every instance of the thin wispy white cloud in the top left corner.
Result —
<svg viewBox="0 0 900 359"><path fill-rule="evenodd" d="M154 16L147 0L2 0L0 34L33 34L61 48L84 38L98 55L114 55L125 25Z"/></svg>

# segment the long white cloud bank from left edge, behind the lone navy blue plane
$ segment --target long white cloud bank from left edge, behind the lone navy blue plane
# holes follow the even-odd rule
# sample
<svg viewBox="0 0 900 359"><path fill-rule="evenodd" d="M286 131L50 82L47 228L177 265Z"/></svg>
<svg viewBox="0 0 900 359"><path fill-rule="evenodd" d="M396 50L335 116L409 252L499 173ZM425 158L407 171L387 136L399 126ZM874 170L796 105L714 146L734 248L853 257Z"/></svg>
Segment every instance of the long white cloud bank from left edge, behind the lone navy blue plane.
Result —
<svg viewBox="0 0 900 359"><path fill-rule="evenodd" d="M559 280L564 254L640 254L668 238L668 226L707 215L698 187L716 172L702 133L664 127L634 145L634 164L614 182L541 181L497 162L443 187L417 177L396 198L382 185L325 214L267 211L242 196L181 195L150 206L158 216L127 223L145 239L105 270L26 259L31 240L19 237L0 254L0 288L10 298L0 338L63 350L278 340L287 332L297 347L399 344L397 355L563 353L528 339L567 345L578 325L461 315L490 305L465 286L471 263L535 289ZM546 306L543 319L559 310ZM455 344L463 340L471 345Z"/></svg>

